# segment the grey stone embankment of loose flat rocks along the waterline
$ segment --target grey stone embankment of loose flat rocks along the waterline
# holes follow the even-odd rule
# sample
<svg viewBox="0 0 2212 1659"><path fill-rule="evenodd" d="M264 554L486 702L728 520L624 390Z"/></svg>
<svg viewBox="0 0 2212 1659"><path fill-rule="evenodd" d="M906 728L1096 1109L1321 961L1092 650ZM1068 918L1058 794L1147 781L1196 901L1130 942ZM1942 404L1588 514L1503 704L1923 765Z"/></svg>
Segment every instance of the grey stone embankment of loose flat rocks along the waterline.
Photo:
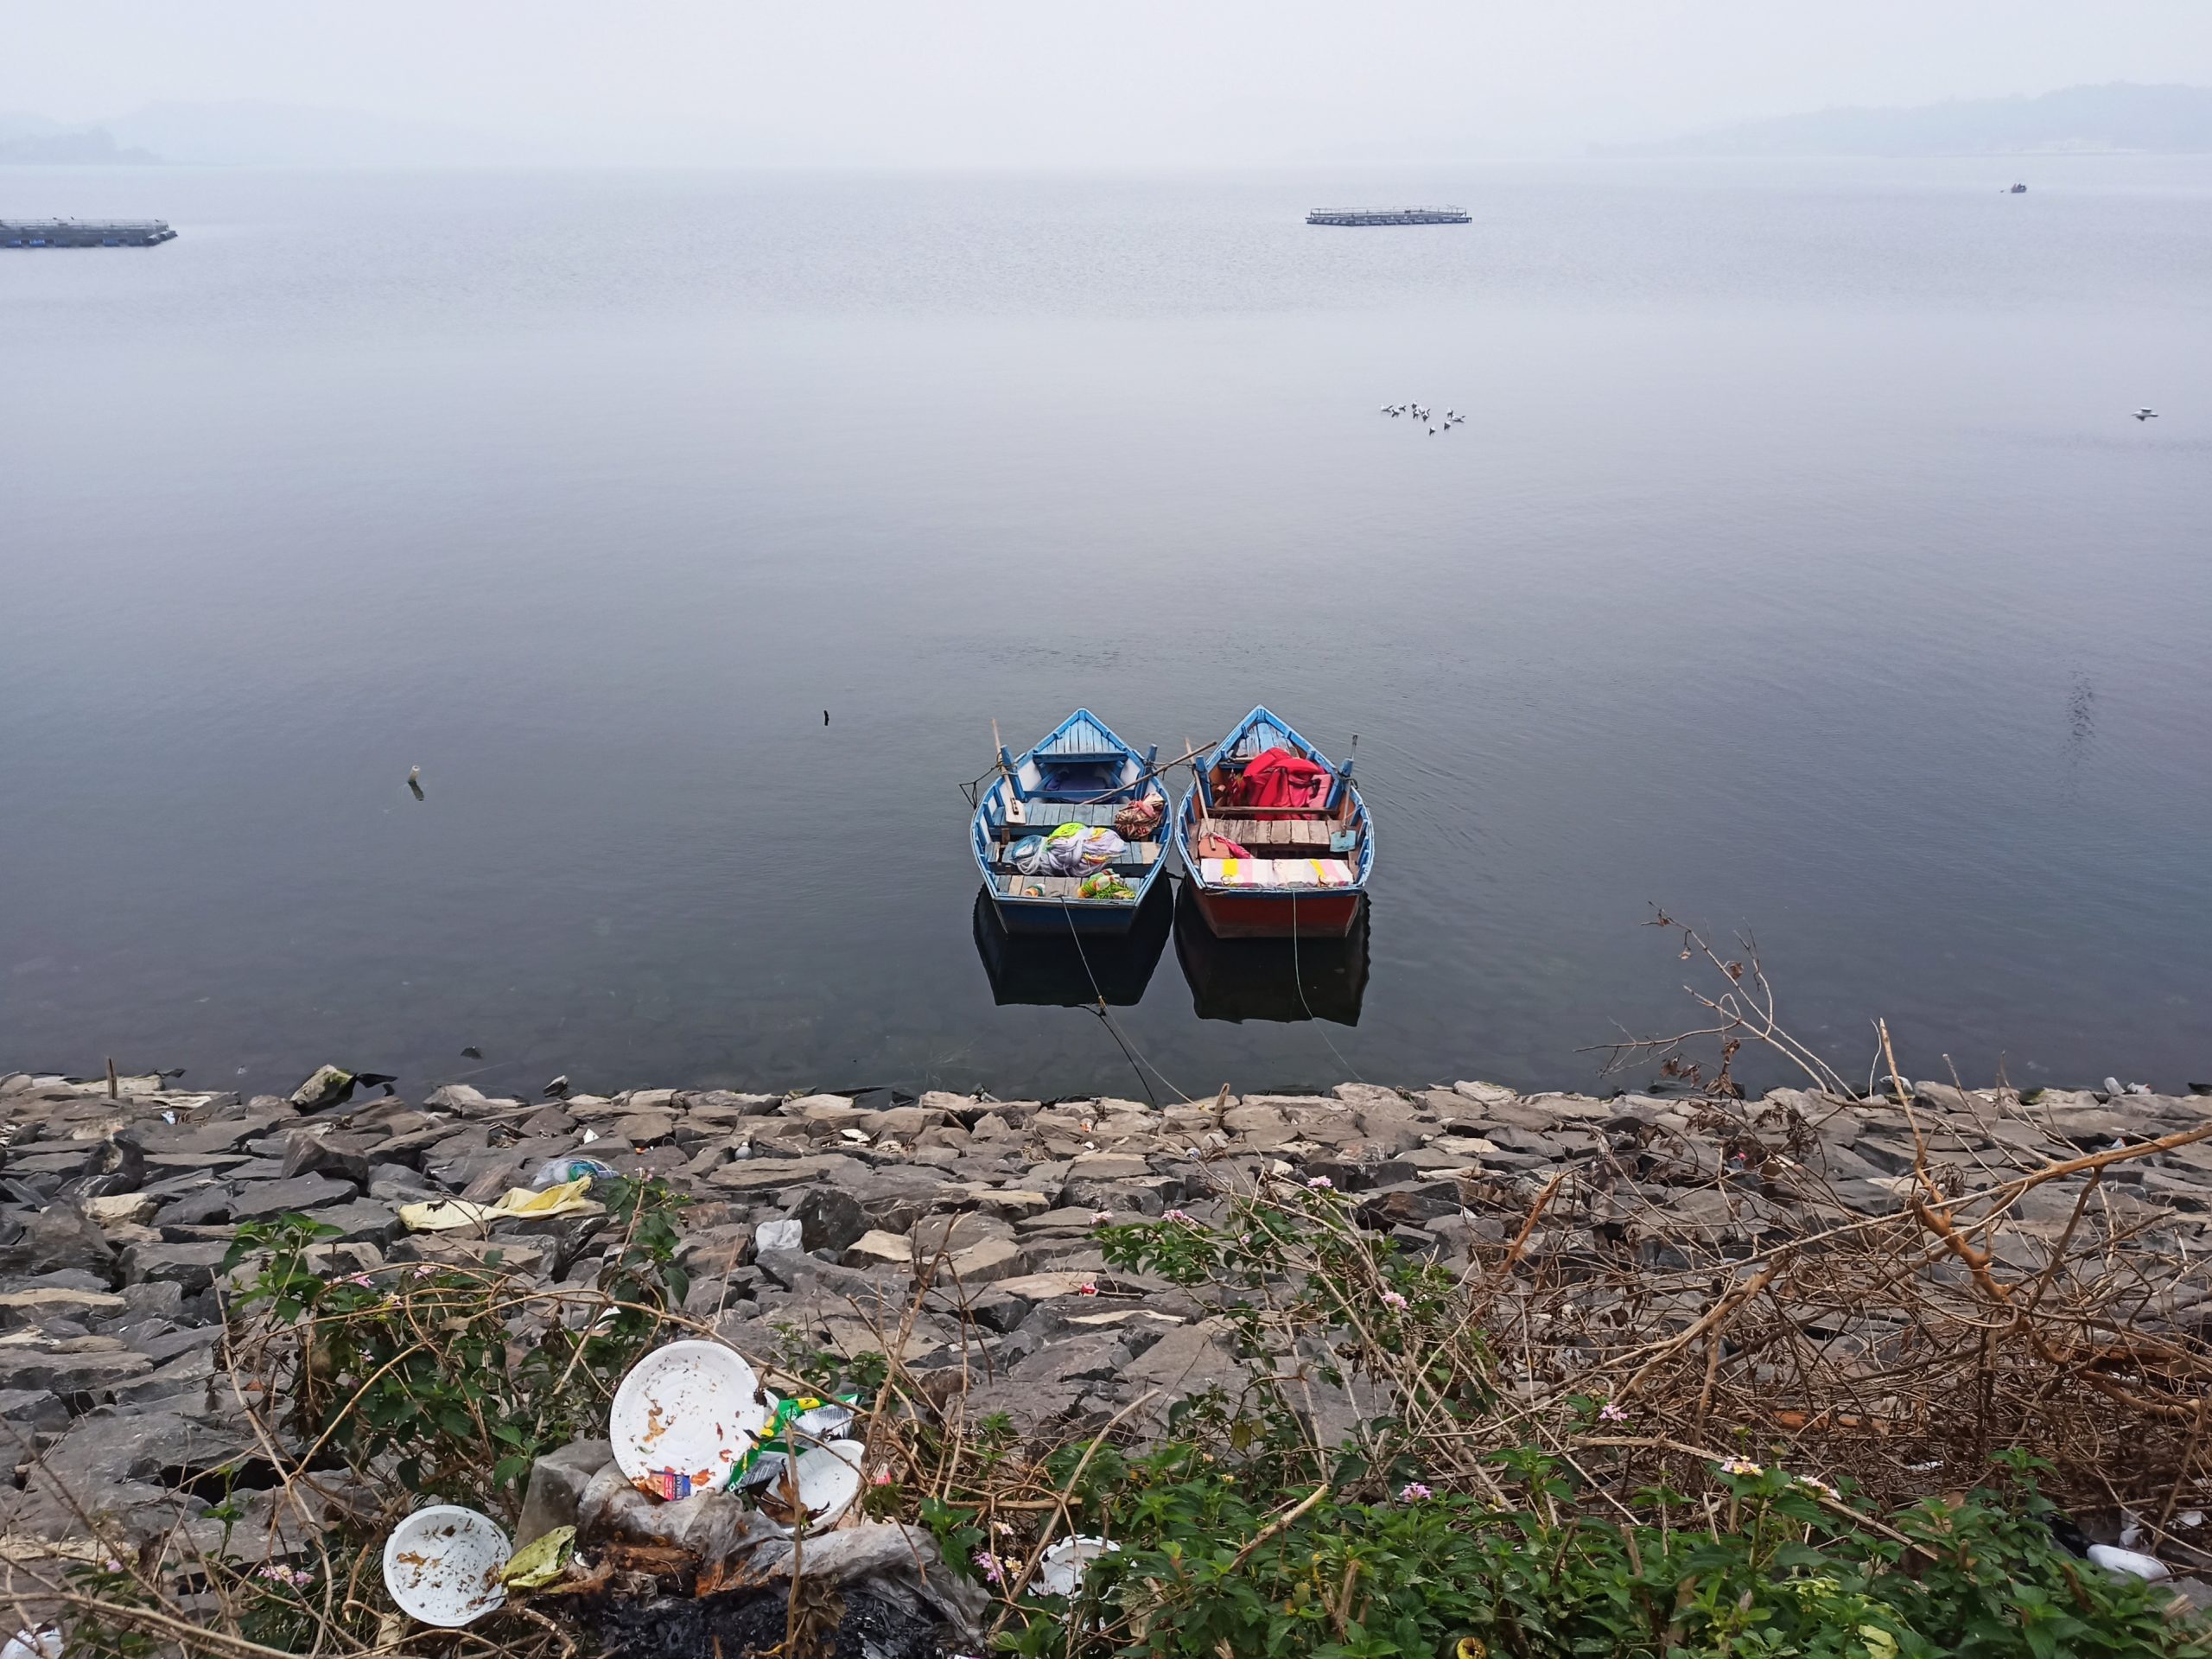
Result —
<svg viewBox="0 0 2212 1659"><path fill-rule="evenodd" d="M1747 1128L1761 1121L1776 1133ZM1670 1272L1741 1261L1838 1214L1896 1212L1916 1157L1962 1192L2208 1124L2208 1099L2042 1091L2024 1104L1947 1084L1920 1084L1909 1108L1776 1091L1717 1113L1462 1082L1157 1110L942 1093L872 1108L719 1088L524 1102L445 1086L411 1102L354 1093L330 1068L292 1097L241 1099L157 1077L111 1095L106 1079L0 1075L0 1422L15 1440L0 1535L20 1555L88 1522L150 1533L221 1500L210 1471L252 1453L217 1283L241 1223L327 1223L319 1265L332 1276L495 1252L507 1272L586 1285L606 1239L573 1212L447 1232L411 1232L400 1214L498 1199L568 1157L666 1177L692 1199L686 1312L748 1354L880 1352L933 1270L958 1296L911 1316L907 1365L964 1387L971 1418L1004 1411L1024 1431L1066 1433L1232 1369L1208 1307L1108 1272L1095 1228L1172 1210L1214 1219L1223 1192L1267 1172L1327 1183L1365 1225L1442 1263L1511 1239L1513 1261L1626 1252ZM1537 1194L1571 1170L1584 1177L1573 1201L1537 1223ZM2130 1248L2201 1259L2212 1243L2212 1141L2112 1164L2097 1186L2097 1225ZM2024 1192L1982 1234L1989 1259L2033 1272L2073 1237L2081 1190ZM2174 1305L2139 1318L2197 1340L2212 1285L2199 1274L2190 1307L2192 1281L2177 1283ZM1679 1294L1672 1329L1710 1292Z"/></svg>

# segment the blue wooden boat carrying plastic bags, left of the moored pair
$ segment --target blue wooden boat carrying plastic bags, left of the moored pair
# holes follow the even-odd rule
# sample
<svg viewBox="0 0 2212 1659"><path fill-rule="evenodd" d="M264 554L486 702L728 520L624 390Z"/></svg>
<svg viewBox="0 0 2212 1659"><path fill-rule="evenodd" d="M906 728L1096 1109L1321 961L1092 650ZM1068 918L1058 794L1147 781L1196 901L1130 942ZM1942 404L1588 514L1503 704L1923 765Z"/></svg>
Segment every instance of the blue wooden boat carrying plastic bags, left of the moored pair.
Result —
<svg viewBox="0 0 2212 1659"><path fill-rule="evenodd" d="M1026 754L998 750L998 776L975 801L971 841L984 891L1009 933L1126 933L1152 883L1168 867L1168 794L1152 774L1159 750L1139 754L1088 708L1077 708ZM1084 896L1091 876L1024 874L1015 847L1062 825L1115 830L1115 818L1146 796L1161 812L1106 872L1121 896ZM1095 883L1093 894L1095 894Z"/></svg>

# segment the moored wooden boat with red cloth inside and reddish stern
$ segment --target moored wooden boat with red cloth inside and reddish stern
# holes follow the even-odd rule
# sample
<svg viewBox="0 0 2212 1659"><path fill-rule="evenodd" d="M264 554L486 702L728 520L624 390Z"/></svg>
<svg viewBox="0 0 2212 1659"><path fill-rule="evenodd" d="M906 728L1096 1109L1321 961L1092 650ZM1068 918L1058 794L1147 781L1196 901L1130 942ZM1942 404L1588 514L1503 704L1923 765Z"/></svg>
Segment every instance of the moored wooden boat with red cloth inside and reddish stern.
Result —
<svg viewBox="0 0 2212 1659"><path fill-rule="evenodd" d="M1175 845L1221 938L1343 938L1367 905L1376 843L1352 761L1329 759L1265 706L1192 768Z"/></svg>

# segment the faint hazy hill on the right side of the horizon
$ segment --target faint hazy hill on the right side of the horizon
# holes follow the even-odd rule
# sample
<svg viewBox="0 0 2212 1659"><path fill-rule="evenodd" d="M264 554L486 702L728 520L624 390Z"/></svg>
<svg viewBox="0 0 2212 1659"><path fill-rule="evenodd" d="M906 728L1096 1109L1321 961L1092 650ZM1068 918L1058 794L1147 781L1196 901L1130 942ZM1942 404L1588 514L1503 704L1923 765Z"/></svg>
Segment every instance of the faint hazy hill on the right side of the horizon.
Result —
<svg viewBox="0 0 2212 1659"><path fill-rule="evenodd" d="M1717 126L1606 155L2062 155L2212 150L2212 88L2066 86L1918 108L1829 108Z"/></svg>

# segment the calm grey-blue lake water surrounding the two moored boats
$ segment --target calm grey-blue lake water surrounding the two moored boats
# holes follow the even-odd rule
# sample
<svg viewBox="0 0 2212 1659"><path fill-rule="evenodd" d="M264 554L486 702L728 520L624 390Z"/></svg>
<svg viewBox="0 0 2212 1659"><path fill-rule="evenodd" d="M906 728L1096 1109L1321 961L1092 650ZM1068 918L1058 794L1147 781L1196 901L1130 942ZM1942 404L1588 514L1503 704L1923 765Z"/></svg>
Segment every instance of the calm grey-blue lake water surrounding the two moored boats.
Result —
<svg viewBox="0 0 2212 1659"><path fill-rule="evenodd" d="M1473 226L1301 221L1394 199ZM1170 940L1192 1095L1586 1086L1694 1015L1650 902L1851 1071L2212 1077L2212 159L0 210L181 232L0 254L0 1066L1133 1095L956 785L1267 701L1358 734L1356 1024Z"/></svg>

